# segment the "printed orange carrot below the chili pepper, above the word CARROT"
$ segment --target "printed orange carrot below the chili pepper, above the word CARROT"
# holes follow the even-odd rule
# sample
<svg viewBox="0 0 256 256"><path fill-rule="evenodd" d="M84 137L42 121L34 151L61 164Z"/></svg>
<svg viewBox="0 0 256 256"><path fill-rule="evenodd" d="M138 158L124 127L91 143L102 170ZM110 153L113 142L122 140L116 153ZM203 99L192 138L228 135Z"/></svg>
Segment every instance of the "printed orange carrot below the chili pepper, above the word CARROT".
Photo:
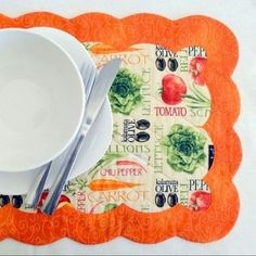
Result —
<svg viewBox="0 0 256 256"><path fill-rule="evenodd" d="M107 191L107 190L118 190L118 189L127 189L141 185L140 183L131 183L118 180L111 179L97 179L92 180L88 185L91 191Z"/></svg>

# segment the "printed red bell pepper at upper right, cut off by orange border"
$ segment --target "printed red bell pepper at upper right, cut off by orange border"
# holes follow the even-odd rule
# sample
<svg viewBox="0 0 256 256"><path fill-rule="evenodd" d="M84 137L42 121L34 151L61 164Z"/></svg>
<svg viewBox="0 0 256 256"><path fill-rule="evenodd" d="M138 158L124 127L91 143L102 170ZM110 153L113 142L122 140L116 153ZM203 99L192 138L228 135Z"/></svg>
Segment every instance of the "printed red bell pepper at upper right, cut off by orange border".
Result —
<svg viewBox="0 0 256 256"><path fill-rule="evenodd" d="M197 86L204 86L205 84L202 72L206 65L206 62L207 59L203 56L193 57L190 62L189 73L192 80Z"/></svg>

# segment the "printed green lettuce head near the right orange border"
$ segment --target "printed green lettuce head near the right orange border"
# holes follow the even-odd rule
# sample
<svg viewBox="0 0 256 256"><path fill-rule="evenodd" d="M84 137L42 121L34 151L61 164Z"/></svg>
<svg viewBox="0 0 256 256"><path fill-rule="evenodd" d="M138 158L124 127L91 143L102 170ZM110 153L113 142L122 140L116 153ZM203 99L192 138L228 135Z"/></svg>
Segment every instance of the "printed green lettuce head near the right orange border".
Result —
<svg viewBox="0 0 256 256"><path fill-rule="evenodd" d="M204 135L189 126L174 125L162 141L167 163L176 171L193 174L206 161Z"/></svg>

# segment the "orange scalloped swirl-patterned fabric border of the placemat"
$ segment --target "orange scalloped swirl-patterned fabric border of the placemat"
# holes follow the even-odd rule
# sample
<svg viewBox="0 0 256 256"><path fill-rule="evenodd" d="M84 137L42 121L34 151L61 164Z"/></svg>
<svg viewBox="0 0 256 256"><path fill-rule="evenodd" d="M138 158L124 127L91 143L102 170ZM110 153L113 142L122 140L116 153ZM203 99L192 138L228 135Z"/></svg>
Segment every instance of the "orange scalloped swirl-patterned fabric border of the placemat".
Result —
<svg viewBox="0 0 256 256"><path fill-rule="evenodd" d="M193 242L210 242L225 236L239 213L239 195L232 177L241 162L241 144L233 130L240 99L231 74L238 61L234 35L220 22L206 16L170 21L153 14L115 18L87 13L65 18L52 13L29 13L16 18L0 15L0 27L52 26L80 41L102 41L118 49L135 43L158 43L178 51L201 46L207 52L205 79L213 111L204 128L215 145L215 162L205 181L210 187L212 205L193 213L177 205L162 213L143 214L120 205L105 214L88 215L69 207L53 216L23 213L8 205L0 209L0 240L13 238L29 244L49 244L67 236L86 244L98 244L123 235L139 243L156 243L178 235Z"/></svg>

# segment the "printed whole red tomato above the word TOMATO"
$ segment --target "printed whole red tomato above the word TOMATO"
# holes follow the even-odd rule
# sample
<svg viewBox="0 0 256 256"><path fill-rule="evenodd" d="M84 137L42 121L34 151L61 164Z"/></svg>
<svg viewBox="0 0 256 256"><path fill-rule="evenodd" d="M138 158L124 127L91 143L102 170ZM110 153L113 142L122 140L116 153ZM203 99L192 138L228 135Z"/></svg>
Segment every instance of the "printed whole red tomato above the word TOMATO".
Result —
<svg viewBox="0 0 256 256"><path fill-rule="evenodd" d="M162 79L162 100L169 105L179 104L187 93L187 86L179 76L168 74Z"/></svg>

